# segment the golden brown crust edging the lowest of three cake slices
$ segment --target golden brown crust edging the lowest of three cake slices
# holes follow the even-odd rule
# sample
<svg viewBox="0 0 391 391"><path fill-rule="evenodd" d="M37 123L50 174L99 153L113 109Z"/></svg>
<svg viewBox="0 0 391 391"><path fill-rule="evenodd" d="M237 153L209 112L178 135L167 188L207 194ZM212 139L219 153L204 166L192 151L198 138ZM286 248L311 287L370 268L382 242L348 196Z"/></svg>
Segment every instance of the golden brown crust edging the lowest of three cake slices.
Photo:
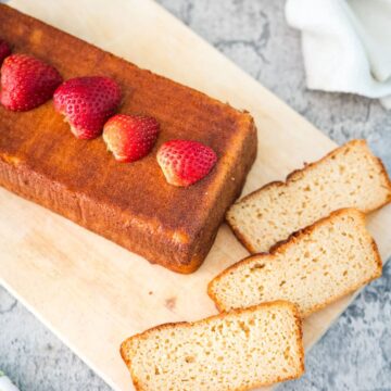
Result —
<svg viewBox="0 0 391 391"><path fill-rule="evenodd" d="M127 354L126 354L126 350L128 344L134 340L134 339L146 339L148 338L149 333L155 331L155 330L161 330L161 329L165 329L165 328L171 328L171 327L192 327L193 325L197 324L204 324L207 323L210 320L213 319L218 319L218 318L224 318L227 314L237 314L240 315L242 313L249 313L249 312L254 312L258 308L262 307L269 307L269 306L286 306L289 307L290 310L292 310L293 314L294 314L294 323L297 325L297 341L298 341L298 346L300 350L300 369L298 370L298 374L295 376L291 376L291 377L286 377L286 378L278 378L278 380L276 380L276 382L279 381L286 381L286 380L292 380L292 379L298 379L303 373L304 373L304 346L303 346L303 330L302 330L302 320L299 314L299 310L298 307L286 300L276 300L273 302L266 302L266 303L262 303L258 305L253 305L247 308L235 308L231 310L230 312L220 312L217 315L213 315L210 316L207 318L204 318L202 320L197 320L197 321L179 321L179 323L167 323L167 324L163 324L163 325L159 325L155 327L152 327L143 332L137 333L128 339L126 339L119 348L119 352L121 352L121 356L123 357L126 366L128 367L129 371L130 371L130 376L131 379L134 381L134 386L136 388L136 390L143 390L142 384L140 382L140 380L137 378L136 374L134 373L133 368L131 368L131 360L128 358ZM257 387L263 387L263 386L270 386L274 384L275 382L260 382L260 383L254 383L252 384L251 388L257 388ZM241 389L237 389L235 391L245 391L249 390L249 388L241 388Z"/></svg>

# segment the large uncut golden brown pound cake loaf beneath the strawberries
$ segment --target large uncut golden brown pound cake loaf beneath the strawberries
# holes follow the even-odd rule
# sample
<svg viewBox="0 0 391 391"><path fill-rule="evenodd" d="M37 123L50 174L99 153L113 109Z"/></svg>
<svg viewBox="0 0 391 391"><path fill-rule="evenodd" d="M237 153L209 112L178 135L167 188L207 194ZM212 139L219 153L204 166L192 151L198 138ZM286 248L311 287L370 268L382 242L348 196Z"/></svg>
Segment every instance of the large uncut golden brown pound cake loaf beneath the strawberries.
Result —
<svg viewBox="0 0 391 391"><path fill-rule="evenodd" d="M252 117L0 4L0 38L14 53L54 66L64 79L108 76L121 86L121 113L156 118L152 153L131 164L112 159L102 138L78 140L52 101L23 113L0 108L0 185L179 273L197 269L256 154ZM167 140L200 141L217 164L177 188L156 151Z"/></svg>

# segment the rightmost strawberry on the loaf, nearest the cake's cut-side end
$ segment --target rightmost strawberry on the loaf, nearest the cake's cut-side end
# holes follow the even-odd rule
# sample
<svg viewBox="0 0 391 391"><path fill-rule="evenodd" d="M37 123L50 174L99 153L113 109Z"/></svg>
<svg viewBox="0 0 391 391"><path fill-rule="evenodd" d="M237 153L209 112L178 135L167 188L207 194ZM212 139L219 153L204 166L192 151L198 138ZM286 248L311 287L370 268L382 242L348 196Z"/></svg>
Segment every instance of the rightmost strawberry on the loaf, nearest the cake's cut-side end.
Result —
<svg viewBox="0 0 391 391"><path fill-rule="evenodd" d="M157 151L157 163L168 184L190 186L205 177L216 164L212 148L198 141L172 140Z"/></svg>

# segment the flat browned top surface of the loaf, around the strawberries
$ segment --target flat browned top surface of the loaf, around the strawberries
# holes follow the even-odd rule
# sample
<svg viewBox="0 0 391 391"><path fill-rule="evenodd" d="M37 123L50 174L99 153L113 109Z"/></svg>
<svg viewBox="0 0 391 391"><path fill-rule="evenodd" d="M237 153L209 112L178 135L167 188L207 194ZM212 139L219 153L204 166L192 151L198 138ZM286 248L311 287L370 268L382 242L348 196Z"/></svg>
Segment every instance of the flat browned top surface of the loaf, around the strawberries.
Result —
<svg viewBox="0 0 391 391"><path fill-rule="evenodd" d="M118 113L153 116L161 126L152 152L125 164L113 159L101 137L76 139L52 101L24 113L0 108L0 157L26 165L102 205L113 204L131 218L149 222L153 229L189 235L202 229L224 181L235 180L227 178L227 167L237 163L237 148L252 127L249 114L1 4L0 37L14 53L55 66L64 79L112 77L123 93ZM218 161L211 174L188 188L167 184L155 154L171 139L197 140L213 148Z"/></svg>

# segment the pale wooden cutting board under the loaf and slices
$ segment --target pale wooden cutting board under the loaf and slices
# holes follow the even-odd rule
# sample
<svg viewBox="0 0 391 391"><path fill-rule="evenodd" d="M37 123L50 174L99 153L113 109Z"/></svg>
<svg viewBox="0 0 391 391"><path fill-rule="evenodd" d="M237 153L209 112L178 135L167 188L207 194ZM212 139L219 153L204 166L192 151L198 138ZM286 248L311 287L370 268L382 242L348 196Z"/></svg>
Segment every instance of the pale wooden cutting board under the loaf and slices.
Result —
<svg viewBox="0 0 391 391"><path fill-rule="evenodd" d="M336 144L151 0L12 0L10 5L142 67L249 110L258 157L244 193L282 179ZM383 260L391 255L391 206L369 217ZM189 276L141 257L0 189L0 282L113 389L130 390L119 343L165 321L216 312L206 283L248 255L223 225L204 265ZM352 297L304 324L308 349Z"/></svg>

